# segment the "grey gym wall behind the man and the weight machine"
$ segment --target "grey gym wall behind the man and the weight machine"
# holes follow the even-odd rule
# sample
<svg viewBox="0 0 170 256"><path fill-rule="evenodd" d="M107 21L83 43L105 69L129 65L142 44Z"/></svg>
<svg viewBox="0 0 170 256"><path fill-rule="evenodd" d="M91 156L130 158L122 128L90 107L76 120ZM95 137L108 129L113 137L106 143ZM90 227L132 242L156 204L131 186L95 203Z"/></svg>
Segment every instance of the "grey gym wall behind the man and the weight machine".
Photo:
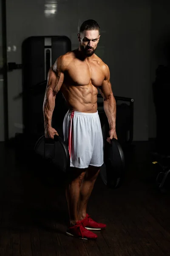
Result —
<svg viewBox="0 0 170 256"><path fill-rule="evenodd" d="M8 62L21 64L21 46L30 36L65 35L72 49L84 20L101 26L96 54L108 64L116 96L134 102L134 140L148 140L151 6L147 0L6 0ZM9 138L23 130L22 71L8 72Z"/></svg>

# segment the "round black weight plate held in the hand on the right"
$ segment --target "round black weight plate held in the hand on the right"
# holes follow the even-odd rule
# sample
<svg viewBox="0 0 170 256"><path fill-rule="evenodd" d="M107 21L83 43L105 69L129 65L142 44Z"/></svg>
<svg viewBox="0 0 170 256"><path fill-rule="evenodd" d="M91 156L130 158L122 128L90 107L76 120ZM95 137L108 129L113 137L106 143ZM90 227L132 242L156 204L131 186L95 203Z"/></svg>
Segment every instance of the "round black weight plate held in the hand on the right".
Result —
<svg viewBox="0 0 170 256"><path fill-rule="evenodd" d="M100 168L100 175L106 186L117 189L121 186L125 175L125 157L118 140L113 138L111 144L106 141L108 125L102 126L104 143L104 164Z"/></svg>

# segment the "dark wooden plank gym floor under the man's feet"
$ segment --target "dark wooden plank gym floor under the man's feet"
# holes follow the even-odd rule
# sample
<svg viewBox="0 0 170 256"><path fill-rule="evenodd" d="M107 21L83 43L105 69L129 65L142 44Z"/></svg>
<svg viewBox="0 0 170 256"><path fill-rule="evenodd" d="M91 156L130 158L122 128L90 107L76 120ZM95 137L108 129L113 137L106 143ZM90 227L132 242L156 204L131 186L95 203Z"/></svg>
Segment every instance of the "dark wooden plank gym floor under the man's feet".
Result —
<svg viewBox="0 0 170 256"><path fill-rule="evenodd" d="M88 214L107 229L94 241L65 235L63 177L33 163L29 145L18 148L0 143L0 256L170 255L170 193L156 189L152 143L125 148L119 189L108 189L100 176L96 180Z"/></svg>

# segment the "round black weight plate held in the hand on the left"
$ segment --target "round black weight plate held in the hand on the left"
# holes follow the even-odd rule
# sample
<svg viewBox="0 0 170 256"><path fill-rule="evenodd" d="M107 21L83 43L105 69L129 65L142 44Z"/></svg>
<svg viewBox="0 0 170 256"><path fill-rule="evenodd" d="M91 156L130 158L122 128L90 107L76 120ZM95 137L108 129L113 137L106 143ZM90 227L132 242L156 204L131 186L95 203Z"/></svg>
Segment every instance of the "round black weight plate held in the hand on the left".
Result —
<svg viewBox="0 0 170 256"><path fill-rule="evenodd" d="M54 140L47 139L44 135L40 137L34 147L34 152L49 165L55 166L57 172L67 172L70 167L68 147L58 135L54 135Z"/></svg>

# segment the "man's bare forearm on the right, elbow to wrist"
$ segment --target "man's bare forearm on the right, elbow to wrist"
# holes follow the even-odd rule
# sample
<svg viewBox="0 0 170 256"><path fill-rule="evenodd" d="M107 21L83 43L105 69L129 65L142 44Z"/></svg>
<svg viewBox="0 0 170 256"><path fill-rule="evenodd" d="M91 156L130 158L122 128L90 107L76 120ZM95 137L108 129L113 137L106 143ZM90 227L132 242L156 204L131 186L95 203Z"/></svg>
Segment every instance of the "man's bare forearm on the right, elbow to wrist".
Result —
<svg viewBox="0 0 170 256"><path fill-rule="evenodd" d="M108 118L110 130L116 130L116 100L111 94L108 99L104 99L104 111Z"/></svg>

